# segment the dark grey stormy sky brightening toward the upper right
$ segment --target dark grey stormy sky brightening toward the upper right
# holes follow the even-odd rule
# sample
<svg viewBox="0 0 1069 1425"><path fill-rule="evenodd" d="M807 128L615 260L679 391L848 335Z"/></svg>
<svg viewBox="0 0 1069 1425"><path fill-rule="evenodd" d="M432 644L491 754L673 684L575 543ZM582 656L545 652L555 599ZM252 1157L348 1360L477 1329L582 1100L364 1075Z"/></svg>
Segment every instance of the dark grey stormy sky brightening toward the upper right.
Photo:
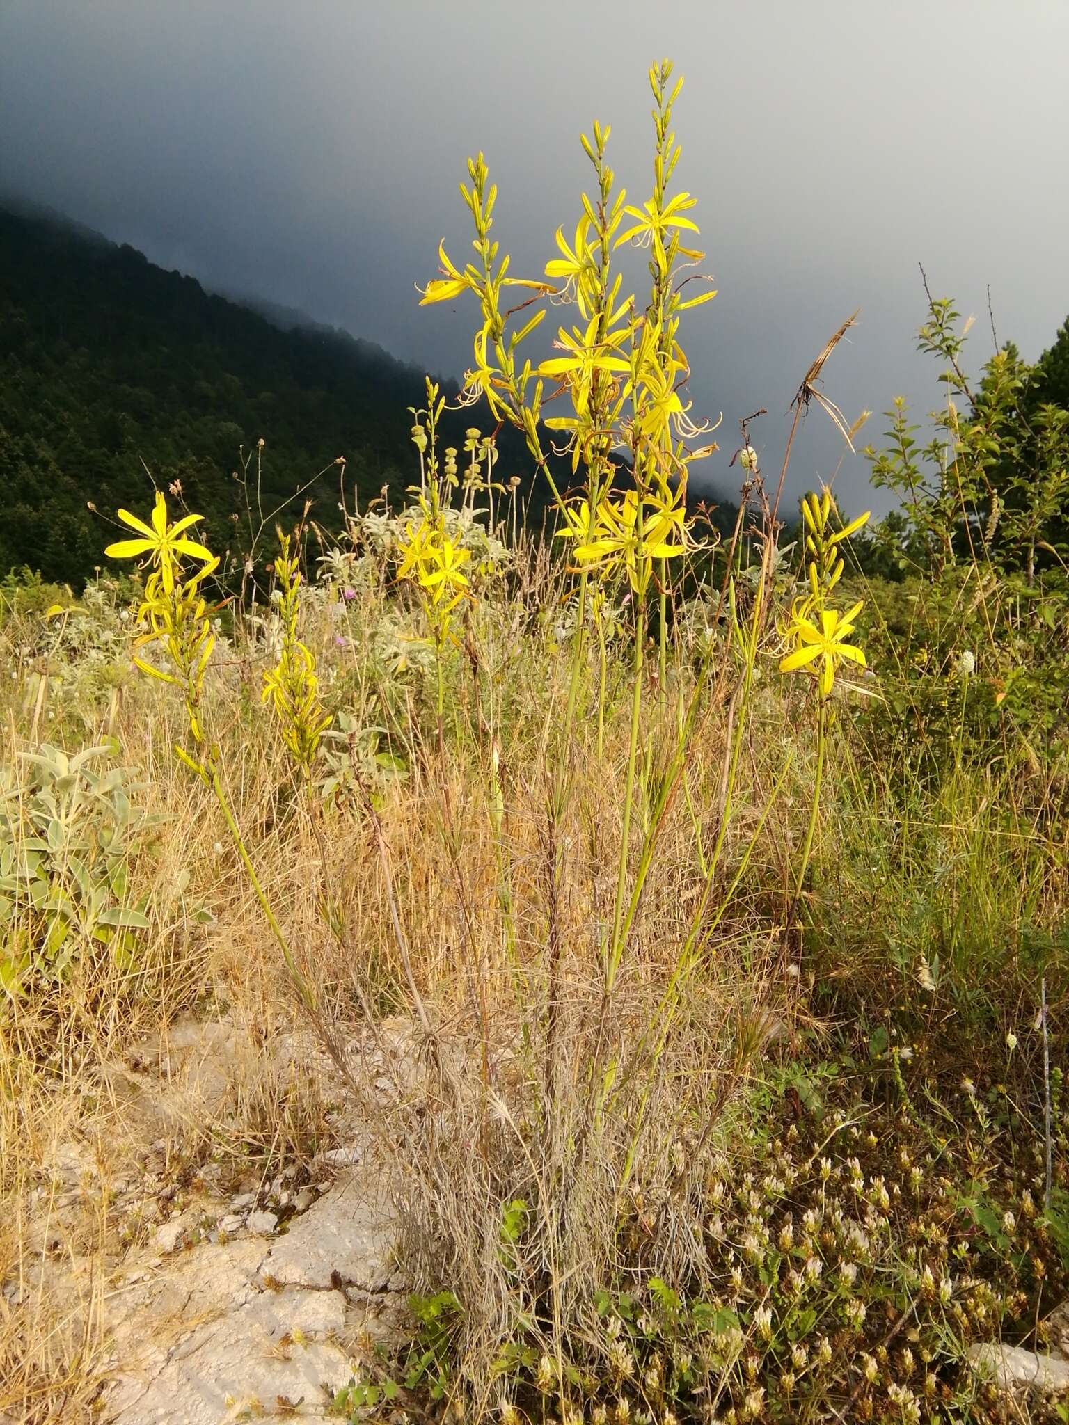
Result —
<svg viewBox="0 0 1069 1425"><path fill-rule="evenodd" d="M874 409L867 439L892 396L935 405L918 259L976 315L974 368L986 284L1001 339L1050 343L1069 311L1069 0L0 0L0 191L459 375L473 312L420 311L413 284L442 235L465 258L466 155L499 184L513 271L540 275L574 229L592 118L647 195L661 54L687 81L678 180L720 289L684 329L696 413L724 412L724 455L696 473L735 483L758 406L778 470L783 412L855 306L827 393L849 419ZM842 450L814 412L792 490ZM849 510L887 506L867 470L842 462Z"/></svg>

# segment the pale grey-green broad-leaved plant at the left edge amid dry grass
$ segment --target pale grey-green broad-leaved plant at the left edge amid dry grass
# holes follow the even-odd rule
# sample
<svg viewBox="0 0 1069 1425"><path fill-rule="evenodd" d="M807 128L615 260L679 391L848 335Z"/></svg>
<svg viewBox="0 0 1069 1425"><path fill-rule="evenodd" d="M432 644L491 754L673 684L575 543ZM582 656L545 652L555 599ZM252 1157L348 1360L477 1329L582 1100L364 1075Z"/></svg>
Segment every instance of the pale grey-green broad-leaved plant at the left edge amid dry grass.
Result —
<svg viewBox="0 0 1069 1425"><path fill-rule="evenodd" d="M150 929L147 896L130 884L130 858L154 818L135 805L144 787L121 767L90 764L113 747L73 757L44 744L24 754L29 782L0 774L0 985L9 995L70 979L86 955L137 965Z"/></svg>

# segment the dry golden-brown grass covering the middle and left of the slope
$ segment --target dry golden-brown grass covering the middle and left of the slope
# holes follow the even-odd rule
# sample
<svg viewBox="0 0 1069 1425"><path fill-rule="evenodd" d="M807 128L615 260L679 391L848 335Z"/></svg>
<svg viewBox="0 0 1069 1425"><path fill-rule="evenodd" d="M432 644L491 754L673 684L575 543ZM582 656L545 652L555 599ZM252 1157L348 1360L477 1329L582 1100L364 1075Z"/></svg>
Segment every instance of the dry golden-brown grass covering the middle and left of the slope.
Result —
<svg viewBox="0 0 1069 1425"><path fill-rule="evenodd" d="M710 1167L723 1163L753 1070L820 1029L797 943L783 931L812 745L802 700L774 678L755 685L744 710L738 792L713 889L716 933L673 998L703 858L728 805L738 670L725 653L606 996L626 671L613 656L603 754L593 717L562 747L569 653L556 627L559 580L542 553L525 556L512 593L473 613L450 658L440 738L432 678L410 643L415 613L375 581L349 603L314 594L305 636L328 701L355 728L382 728L376 747L403 758L401 775L362 762L349 792L329 802L309 805L294 788L259 705L265 647L255 633L217 657L207 707L237 819L358 1087L383 1069L373 1056L363 1073L361 1049L375 1047L375 1032L361 1005L410 1025L409 1047L385 1064L398 1070L395 1092L376 1100L365 1127L396 1164L413 1280L463 1294L455 1369L482 1406L493 1404L492 1365L517 1320L552 1359L577 1341L597 1359L610 1342L590 1302L606 1280L657 1274L714 1288L703 1240ZM117 618L118 608L94 617ZM93 637L87 628L83 643ZM147 784L145 805L164 814L131 856L131 885L147 895L151 919L133 970L87 943L61 986L37 986L0 1013L0 1281L19 1288L0 1300L0 1409L73 1421L88 1418L107 1371L101 1304L144 1254L161 1187L194 1193L210 1164L218 1183L220 1173L238 1180L301 1160L341 1131L344 1100L352 1130L359 1100L311 1049L222 817L171 752L182 727L168 688L121 665L101 681L86 647L50 647L40 624L9 624L0 638L38 650L11 690L0 761L20 765L44 730L71 751L114 735L117 760ZM765 638L771 648L771 623ZM691 654L680 647L670 687L647 690L636 844L693 687ZM31 667L47 670L44 681ZM570 795L554 819L562 765ZM855 851L867 856L879 811L865 812L862 781L842 778L840 789L851 818L844 844L864 844ZM832 805L830 825L835 815ZM175 893L180 869L188 884ZM841 865L832 881L848 903ZM1062 898L1063 876L1052 875L1045 905L1031 909L1053 923ZM225 1082L168 1080L160 1046L188 1016L227 1036ZM64 1154L91 1163L84 1183L57 1173ZM522 1204L516 1230L510 1204Z"/></svg>

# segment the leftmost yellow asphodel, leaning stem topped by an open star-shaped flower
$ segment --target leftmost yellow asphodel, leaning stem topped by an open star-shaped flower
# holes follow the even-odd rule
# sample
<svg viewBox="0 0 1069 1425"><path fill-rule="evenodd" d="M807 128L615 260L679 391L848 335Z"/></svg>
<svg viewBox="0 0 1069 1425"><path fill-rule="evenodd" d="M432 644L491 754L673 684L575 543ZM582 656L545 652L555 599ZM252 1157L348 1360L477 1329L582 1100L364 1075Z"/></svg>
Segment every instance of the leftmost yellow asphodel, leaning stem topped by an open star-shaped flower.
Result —
<svg viewBox="0 0 1069 1425"><path fill-rule="evenodd" d="M144 557L148 563L145 596L138 611L140 621L144 623L145 628L138 634L135 647L144 647L145 644L160 646L161 651L167 656L170 670L161 668L155 663L148 663L140 656L134 656L134 663L150 677L181 688L185 700L190 741L185 747L175 744L175 755L195 772L215 797L261 909L282 950L289 979L305 1009L315 1017L316 1010L312 988L296 963L286 935L278 923L271 901L252 864L245 838L241 834L227 789L222 785L218 747L208 740L201 715L205 675L215 646L211 613L201 586L218 569L220 561L207 546L187 536L187 530L200 523L201 516L185 514L171 524L167 519L167 500L161 492L157 492L150 523L140 520L128 510L118 510L118 517L130 529L135 530L137 539L117 540L108 544L104 553L108 559ZM286 553L284 549L284 557ZM291 648L291 656L292 651ZM311 658L311 654L308 654L308 658ZM305 691L308 687L306 674L309 671L308 668L305 670L302 681ZM274 677L279 690L286 688L292 693L296 688L286 668L281 674L279 670L275 670ZM322 731L322 724L318 731ZM318 732L315 735L318 737ZM299 745L306 748L308 738Z"/></svg>

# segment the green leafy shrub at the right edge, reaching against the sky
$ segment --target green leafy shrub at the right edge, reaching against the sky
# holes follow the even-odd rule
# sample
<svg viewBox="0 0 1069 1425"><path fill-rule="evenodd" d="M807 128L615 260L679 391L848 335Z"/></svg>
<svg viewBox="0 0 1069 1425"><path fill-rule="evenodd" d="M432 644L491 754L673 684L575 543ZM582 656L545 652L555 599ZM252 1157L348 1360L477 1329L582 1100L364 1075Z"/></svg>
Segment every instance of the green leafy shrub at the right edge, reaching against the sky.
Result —
<svg viewBox="0 0 1069 1425"><path fill-rule="evenodd" d="M874 483L902 502L868 566L894 560L902 580L871 586L872 732L936 777L962 758L1035 767L1040 747L1055 765L1069 752L1069 408L1050 399L1065 332L1035 366L1008 343L974 382L968 325L929 301L919 346L946 388L934 436L922 446L897 400L887 447L867 450Z"/></svg>

